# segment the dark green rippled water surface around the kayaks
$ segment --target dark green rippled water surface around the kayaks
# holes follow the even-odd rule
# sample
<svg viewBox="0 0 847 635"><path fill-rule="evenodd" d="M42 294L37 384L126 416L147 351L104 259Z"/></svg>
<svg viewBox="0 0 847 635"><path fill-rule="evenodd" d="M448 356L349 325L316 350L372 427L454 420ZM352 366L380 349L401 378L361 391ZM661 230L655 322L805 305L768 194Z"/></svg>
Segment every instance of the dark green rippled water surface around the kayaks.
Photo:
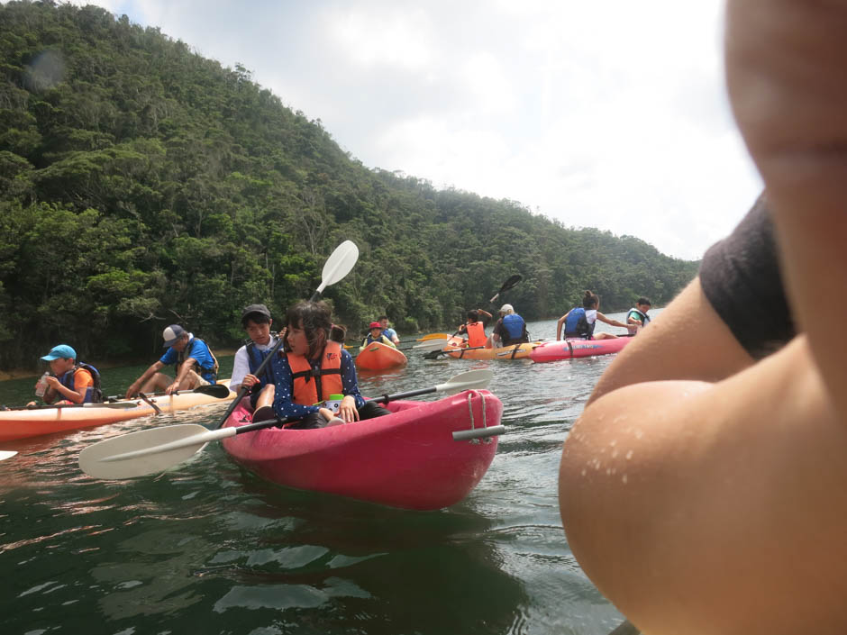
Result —
<svg viewBox="0 0 847 635"><path fill-rule="evenodd" d="M529 329L553 339L556 322ZM270 485L216 444L158 477L103 482L77 467L97 440L214 426L225 404L2 443L20 452L0 463L3 632L606 635L622 617L571 555L556 487L561 443L612 358L418 354L360 374L363 395L383 395L494 370L507 433L474 492L438 512ZM232 358L222 364L228 376ZM142 369L105 370L105 394ZM0 403L25 403L34 379L0 383Z"/></svg>

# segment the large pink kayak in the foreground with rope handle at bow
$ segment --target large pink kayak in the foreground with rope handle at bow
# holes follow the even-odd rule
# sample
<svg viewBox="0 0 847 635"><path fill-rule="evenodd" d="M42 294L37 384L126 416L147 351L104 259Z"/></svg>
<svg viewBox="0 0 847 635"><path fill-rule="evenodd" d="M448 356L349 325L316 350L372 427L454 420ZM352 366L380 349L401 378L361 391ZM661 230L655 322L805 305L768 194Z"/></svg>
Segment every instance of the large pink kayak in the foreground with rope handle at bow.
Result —
<svg viewBox="0 0 847 635"><path fill-rule="evenodd" d="M242 401L225 427L251 421ZM223 440L242 466L297 489L414 510L458 503L494 459L503 404L487 390L396 401L376 419L317 430L268 428Z"/></svg>

